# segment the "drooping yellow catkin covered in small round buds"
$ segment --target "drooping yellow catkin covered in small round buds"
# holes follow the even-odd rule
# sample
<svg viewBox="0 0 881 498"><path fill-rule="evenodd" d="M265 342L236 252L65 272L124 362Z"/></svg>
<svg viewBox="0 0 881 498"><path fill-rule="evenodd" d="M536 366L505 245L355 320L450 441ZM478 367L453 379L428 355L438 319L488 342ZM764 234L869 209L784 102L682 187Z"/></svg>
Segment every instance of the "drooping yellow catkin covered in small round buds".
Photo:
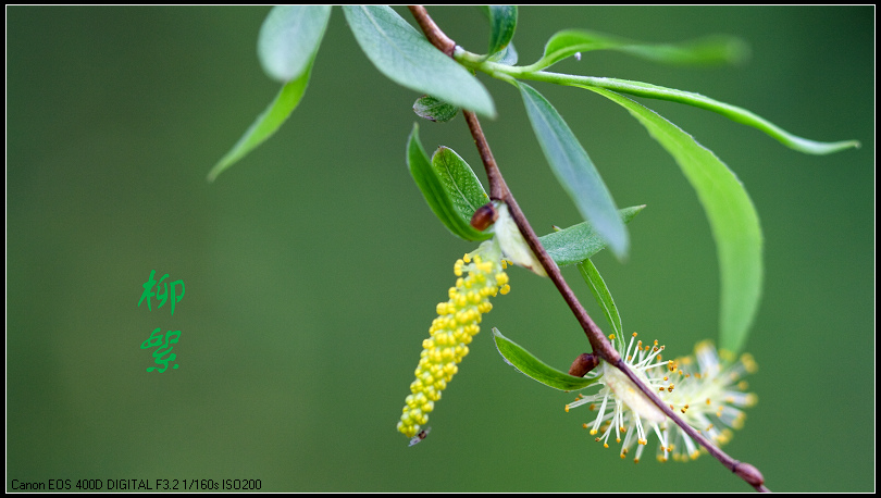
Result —
<svg viewBox="0 0 881 498"><path fill-rule="evenodd" d="M422 341L422 353L410 384L398 431L413 437L429 422L429 413L440 399L447 384L459 371L458 363L468 354L468 345L481 328L481 315L489 312L489 297L508 294L508 275L504 269L501 248L497 239L483 242L477 250L456 261L456 287L449 289L449 300L437 304L437 318L432 322L431 337Z"/></svg>

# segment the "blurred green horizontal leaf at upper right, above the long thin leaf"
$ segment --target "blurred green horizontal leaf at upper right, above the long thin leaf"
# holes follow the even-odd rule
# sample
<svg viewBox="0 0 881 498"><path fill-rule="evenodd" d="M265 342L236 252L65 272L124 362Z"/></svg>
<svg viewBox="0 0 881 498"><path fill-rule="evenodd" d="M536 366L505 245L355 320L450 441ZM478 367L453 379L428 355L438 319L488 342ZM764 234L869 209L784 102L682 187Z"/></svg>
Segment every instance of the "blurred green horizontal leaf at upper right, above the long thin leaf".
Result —
<svg viewBox="0 0 881 498"><path fill-rule="evenodd" d="M745 60L749 53L743 40L724 35L679 43L645 43L586 29L564 29L550 37L544 57L529 67L542 70L578 52L592 50L618 50L672 64L730 64Z"/></svg>

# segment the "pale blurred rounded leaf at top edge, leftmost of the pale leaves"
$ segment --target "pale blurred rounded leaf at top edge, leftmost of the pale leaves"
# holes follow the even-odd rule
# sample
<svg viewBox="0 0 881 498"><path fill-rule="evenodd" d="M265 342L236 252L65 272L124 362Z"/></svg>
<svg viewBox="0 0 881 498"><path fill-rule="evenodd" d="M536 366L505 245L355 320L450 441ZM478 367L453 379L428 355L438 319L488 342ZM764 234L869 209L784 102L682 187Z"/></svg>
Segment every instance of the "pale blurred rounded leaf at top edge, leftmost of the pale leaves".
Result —
<svg viewBox="0 0 881 498"><path fill-rule="evenodd" d="M302 75L312 65L330 18L330 5L273 7L257 40L263 71L282 83Z"/></svg>

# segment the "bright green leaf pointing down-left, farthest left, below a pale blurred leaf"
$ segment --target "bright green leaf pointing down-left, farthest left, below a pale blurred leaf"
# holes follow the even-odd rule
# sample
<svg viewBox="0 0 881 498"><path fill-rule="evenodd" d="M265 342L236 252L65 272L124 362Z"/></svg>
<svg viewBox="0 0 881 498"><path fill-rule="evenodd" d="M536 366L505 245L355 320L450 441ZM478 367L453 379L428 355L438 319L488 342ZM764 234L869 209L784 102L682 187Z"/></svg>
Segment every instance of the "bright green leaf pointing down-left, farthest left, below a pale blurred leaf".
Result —
<svg viewBox="0 0 881 498"><path fill-rule="evenodd" d="M213 182L218 175L223 173L227 167L256 149L257 146L271 137L278 127L287 121L287 117L297 109L297 104L300 103L303 92L306 92L311 71L312 66L310 64L300 77L282 87L282 90L275 96L275 100L270 103L262 114L257 116L257 120L255 120L251 126L245 132L245 135L238 139L236 145L226 152L226 155L214 164L214 167L208 173L209 182Z"/></svg>

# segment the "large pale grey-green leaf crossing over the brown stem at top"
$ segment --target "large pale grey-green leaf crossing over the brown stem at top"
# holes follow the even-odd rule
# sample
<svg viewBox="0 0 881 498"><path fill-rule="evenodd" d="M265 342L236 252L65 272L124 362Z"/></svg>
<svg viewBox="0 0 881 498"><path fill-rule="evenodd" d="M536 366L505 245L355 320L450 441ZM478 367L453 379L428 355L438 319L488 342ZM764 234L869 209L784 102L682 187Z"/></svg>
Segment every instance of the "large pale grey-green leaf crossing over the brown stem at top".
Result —
<svg viewBox="0 0 881 498"><path fill-rule="evenodd" d="M452 105L495 117L489 92L385 5L344 5L343 12L368 59L389 79Z"/></svg>

